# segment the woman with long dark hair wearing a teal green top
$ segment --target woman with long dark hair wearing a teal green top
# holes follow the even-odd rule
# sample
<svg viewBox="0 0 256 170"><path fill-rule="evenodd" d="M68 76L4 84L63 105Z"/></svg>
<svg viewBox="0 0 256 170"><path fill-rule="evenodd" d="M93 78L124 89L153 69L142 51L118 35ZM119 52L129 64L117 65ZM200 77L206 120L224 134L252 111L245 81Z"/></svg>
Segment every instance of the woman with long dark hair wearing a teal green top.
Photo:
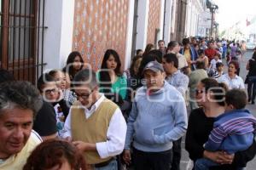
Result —
<svg viewBox="0 0 256 170"><path fill-rule="evenodd" d="M122 76L121 60L115 50L108 49L105 52L98 80L103 94L119 94L122 99L126 98L127 81Z"/></svg>

